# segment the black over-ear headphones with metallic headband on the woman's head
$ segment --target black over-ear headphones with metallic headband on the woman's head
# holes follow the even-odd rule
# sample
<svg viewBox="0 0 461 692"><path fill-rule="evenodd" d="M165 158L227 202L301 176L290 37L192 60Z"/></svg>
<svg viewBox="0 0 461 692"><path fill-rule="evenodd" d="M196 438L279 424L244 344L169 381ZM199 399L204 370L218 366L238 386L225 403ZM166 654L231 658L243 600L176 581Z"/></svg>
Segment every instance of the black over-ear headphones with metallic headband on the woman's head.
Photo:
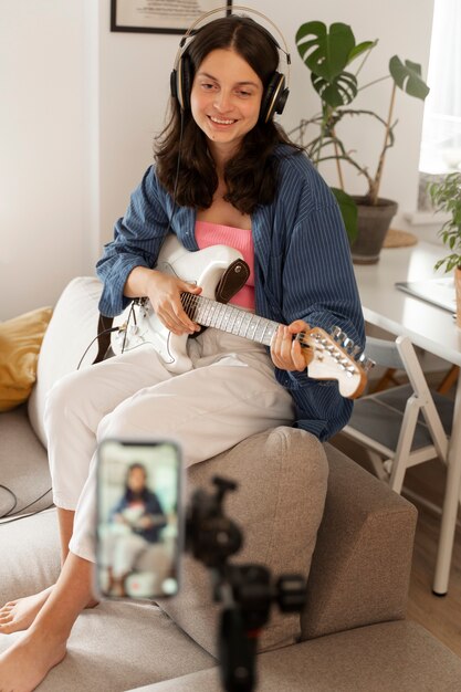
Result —
<svg viewBox="0 0 461 692"><path fill-rule="evenodd" d="M275 28L275 30L279 32L280 36L282 38L283 44L285 46L284 49L279 45L279 43L275 41L273 35L264 27L261 27L261 24L256 24L256 27L273 42L275 48L282 53L284 53L285 59L286 59L286 65L287 65L287 76L290 76L291 57L287 51L286 41L283 38L283 34L281 33L280 29L277 29L277 27L274 24L274 22L272 22L269 19L269 17L266 17L262 12L259 12L258 10L253 10L251 8L239 6L239 4L233 6L232 8L229 8L229 7L216 8L214 10L211 10L210 12L205 12L203 14L201 14L193 22L193 24L189 27L189 29L186 31L186 33L184 34L182 39L179 42L179 49L178 49L176 60L175 60L175 67L172 69L171 74L170 74L170 90L171 90L171 96L178 99L181 111L187 111L188 108L190 108L190 93L192 90L192 82L193 82L193 67L192 67L192 63L188 53L189 45L193 41L193 38L192 38L192 41L189 41L189 43L187 43L187 41L191 36L192 31L199 23L208 19L208 17L210 17L211 14L216 14L217 12L223 12L224 10L229 10L229 9L244 10L252 14L258 14L259 17L262 17L266 22L269 22L272 27ZM285 107L285 103L290 93L286 81L287 80L285 80L285 75L280 72L275 71L272 74L269 81L269 84L264 88L262 99L261 99L261 109L260 109L260 117L259 117L261 123L269 123L269 120L275 115L275 113L277 113L279 115L283 113L283 108Z"/></svg>

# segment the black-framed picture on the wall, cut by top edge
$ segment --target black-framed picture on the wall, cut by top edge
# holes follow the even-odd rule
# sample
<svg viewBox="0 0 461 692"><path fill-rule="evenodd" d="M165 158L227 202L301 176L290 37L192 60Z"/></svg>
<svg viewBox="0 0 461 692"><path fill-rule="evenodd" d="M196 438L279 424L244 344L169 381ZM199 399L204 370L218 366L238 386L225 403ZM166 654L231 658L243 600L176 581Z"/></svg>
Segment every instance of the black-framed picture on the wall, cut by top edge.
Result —
<svg viewBox="0 0 461 692"><path fill-rule="evenodd" d="M230 14L232 0L111 0L111 31L182 34L201 14L220 8L222 17Z"/></svg>

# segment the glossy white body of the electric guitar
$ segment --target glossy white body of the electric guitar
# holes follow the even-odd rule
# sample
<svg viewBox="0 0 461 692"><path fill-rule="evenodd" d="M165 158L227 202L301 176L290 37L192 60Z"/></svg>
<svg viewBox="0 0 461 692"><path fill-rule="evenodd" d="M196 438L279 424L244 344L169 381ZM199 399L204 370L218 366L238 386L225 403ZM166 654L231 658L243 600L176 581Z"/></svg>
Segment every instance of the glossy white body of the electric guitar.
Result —
<svg viewBox="0 0 461 692"><path fill-rule="evenodd" d="M205 250L190 252L172 233L167 235L161 245L156 269L166 274L202 287L201 296L214 300L219 281L235 260L242 259L240 252L227 245L212 245ZM129 317L132 306L114 321L115 326L128 323L127 332L119 332L112 339L116 355L124 350L151 344L170 373L180 374L190 370L192 364L187 355L188 334L171 334L155 314L150 302L146 301L136 308L136 324Z"/></svg>

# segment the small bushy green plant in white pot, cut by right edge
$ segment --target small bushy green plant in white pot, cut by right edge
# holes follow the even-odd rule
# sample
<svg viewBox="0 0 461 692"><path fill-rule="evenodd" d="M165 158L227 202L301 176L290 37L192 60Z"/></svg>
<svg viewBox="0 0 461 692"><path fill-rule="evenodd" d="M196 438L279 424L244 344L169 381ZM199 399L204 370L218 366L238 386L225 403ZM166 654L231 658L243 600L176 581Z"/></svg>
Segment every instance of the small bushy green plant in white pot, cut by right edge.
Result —
<svg viewBox="0 0 461 692"><path fill-rule="evenodd" d="M461 327L461 172L452 172L441 182L432 182L429 193L434 211L450 214L439 231L450 254L436 263L434 269L446 265L446 272L454 270L454 287L457 294L457 324Z"/></svg>

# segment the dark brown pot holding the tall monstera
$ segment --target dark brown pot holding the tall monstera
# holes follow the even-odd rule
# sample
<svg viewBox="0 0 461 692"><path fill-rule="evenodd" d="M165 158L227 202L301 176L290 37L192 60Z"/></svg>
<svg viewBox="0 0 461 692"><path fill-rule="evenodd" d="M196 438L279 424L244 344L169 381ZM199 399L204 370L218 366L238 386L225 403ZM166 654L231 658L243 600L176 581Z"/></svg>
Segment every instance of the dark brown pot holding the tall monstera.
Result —
<svg viewBox="0 0 461 692"><path fill-rule="evenodd" d="M366 197L353 197L357 205L357 239L350 247L355 264L376 264L390 222L397 212L397 202L378 199L377 205L366 203Z"/></svg>

